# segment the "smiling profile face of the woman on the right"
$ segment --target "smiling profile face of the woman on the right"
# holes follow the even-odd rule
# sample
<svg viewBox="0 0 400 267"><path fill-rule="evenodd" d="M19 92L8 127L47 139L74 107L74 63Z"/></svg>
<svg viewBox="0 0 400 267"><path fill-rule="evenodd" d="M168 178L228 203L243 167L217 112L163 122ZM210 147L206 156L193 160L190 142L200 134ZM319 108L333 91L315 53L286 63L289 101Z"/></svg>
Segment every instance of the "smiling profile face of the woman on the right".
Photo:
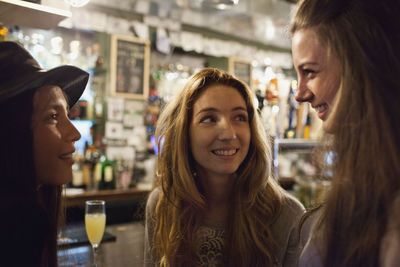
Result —
<svg viewBox="0 0 400 267"><path fill-rule="evenodd" d="M309 102L325 121L332 111L340 87L338 58L322 45L313 30L296 31L292 38L293 64L299 83L296 100Z"/></svg>

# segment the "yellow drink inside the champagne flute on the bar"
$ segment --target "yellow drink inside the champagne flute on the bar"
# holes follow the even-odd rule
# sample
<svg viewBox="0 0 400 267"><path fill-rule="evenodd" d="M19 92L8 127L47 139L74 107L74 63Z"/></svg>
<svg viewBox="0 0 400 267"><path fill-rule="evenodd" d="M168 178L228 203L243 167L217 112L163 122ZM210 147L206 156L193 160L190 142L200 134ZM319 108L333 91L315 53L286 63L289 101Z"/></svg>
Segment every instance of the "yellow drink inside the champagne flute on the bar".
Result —
<svg viewBox="0 0 400 267"><path fill-rule="evenodd" d="M106 215L103 213L93 213L85 215L86 234L93 246L98 246L103 238L106 225Z"/></svg>

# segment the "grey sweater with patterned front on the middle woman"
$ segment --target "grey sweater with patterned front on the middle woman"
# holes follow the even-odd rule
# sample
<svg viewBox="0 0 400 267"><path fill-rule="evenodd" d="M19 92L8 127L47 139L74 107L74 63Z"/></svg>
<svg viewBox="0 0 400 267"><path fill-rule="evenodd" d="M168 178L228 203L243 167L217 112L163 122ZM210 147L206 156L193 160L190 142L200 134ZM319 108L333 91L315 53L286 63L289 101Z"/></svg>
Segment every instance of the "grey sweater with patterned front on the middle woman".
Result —
<svg viewBox="0 0 400 267"><path fill-rule="evenodd" d="M151 259L152 236L154 229L154 213L160 195L156 188L150 194L146 205L145 226L145 263L144 266L154 266ZM304 213L304 207L289 194L285 194L281 214L272 225L272 232L276 237L280 250L276 255L277 262L274 266L297 266L300 255L298 222ZM195 233L197 243L197 266L221 266L222 251L225 239L223 225L213 222L204 224Z"/></svg>

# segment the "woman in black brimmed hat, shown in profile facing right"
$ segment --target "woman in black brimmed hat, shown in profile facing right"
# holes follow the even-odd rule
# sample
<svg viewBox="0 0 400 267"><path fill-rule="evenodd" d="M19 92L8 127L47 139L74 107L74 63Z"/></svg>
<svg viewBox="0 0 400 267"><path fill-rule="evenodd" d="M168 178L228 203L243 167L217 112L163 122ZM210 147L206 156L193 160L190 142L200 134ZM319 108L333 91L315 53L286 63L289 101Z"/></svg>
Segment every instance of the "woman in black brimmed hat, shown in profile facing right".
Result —
<svg viewBox="0 0 400 267"><path fill-rule="evenodd" d="M0 42L1 266L57 266L61 185L80 139L68 109L87 81L72 66L43 71L21 46Z"/></svg>

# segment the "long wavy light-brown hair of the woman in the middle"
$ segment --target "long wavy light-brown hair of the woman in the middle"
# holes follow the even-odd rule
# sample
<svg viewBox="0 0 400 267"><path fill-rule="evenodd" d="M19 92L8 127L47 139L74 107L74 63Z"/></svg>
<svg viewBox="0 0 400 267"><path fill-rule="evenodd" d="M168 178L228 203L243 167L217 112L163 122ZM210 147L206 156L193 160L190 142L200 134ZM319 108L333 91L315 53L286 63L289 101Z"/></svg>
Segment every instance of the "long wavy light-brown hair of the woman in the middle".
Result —
<svg viewBox="0 0 400 267"><path fill-rule="evenodd" d="M270 225L280 213L281 189L271 178L271 149L248 86L223 71L206 68L192 76L180 94L162 111L156 138L159 141L158 178L161 195L156 206L152 254L156 265L192 266L195 232L206 206L198 178L193 175L189 125L193 105L211 85L238 90L246 102L251 129L249 152L236 173L232 209L226 229L224 266L272 265L277 251Z"/></svg>

